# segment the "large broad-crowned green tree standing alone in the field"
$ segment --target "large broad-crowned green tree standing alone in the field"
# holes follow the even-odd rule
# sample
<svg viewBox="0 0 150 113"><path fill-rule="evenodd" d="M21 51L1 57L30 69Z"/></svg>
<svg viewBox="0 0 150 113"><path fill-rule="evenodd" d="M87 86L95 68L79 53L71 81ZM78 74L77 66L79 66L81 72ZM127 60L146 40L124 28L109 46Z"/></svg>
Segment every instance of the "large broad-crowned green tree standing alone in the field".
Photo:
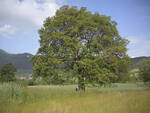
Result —
<svg viewBox="0 0 150 113"><path fill-rule="evenodd" d="M59 80L60 70L72 70L81 90L86 83L119 80L119 74L127 72L129 57L128 41L116 25L109 16L92 14L85 7L62 6L39 30L40 48L32 58L34 75Z"/></svg>

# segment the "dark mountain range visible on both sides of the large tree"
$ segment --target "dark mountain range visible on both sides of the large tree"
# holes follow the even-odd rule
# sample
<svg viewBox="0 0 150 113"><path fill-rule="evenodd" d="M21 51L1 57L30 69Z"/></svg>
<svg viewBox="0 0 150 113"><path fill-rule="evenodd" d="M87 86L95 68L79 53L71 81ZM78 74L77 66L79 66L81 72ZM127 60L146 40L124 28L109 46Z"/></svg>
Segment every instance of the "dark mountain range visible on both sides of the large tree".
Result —
<svg viewBox="0 0 150 113"><path fill-rule="evenodd" d="M11 62L18 70L18 74L31 74L32 73L32 63L30 62L30 58L33 55L30 53L22 53L22 54L10 54L2 49L0 49L0 67L4 64ZM131 58L131 65L129 69L137 68L140 62L143 59L147 59L150 57L136 57Z"/></svg>

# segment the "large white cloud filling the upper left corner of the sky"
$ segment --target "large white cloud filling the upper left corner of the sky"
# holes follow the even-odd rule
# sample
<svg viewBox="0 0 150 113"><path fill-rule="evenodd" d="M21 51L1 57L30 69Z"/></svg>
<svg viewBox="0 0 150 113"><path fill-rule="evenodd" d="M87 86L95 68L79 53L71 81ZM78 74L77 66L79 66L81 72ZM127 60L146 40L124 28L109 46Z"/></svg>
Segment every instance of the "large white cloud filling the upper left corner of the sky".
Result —
<svg viewBox="0 0 150 113"><path fill-rule="evenodd" d="M40 27L58 8L56 0L0 0L0 24L25 29Z"/></svg>

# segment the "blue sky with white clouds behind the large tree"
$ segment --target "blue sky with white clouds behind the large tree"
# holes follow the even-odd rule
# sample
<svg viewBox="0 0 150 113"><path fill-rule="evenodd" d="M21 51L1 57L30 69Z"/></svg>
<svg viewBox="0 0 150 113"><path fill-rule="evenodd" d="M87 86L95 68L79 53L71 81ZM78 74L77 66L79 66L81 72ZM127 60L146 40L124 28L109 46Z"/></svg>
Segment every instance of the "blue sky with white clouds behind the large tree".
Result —
<svg viewBox="0 0 150 113"><path fill-rule="evenodd" d="M111 16L120 35L130 41L129 56L150 56L150 0L0 0L0 49L35 54L37 30L64 4Z"/></svg>

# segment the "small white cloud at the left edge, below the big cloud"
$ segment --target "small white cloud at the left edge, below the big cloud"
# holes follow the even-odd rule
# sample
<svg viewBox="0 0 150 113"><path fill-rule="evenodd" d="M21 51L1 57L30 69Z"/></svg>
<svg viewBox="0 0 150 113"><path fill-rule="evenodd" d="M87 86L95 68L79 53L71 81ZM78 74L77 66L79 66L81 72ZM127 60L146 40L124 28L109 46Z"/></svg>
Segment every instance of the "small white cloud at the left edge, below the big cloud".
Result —
<svg viewBox="0 0 150 113"><path fill-rule="evenodd" d="M11 25L5 24L0 26L0 35L4 37L10 37L14 35L16 32L16 28L12 27Z"/></svg>

